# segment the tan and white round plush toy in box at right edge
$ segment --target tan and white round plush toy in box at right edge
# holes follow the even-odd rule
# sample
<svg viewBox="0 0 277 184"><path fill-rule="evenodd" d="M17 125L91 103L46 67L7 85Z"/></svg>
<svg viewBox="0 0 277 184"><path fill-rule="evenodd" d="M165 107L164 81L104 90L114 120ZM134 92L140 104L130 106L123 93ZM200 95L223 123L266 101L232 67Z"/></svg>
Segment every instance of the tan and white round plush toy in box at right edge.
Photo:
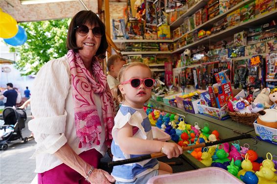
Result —
<svg viewBox="0 0 277 184"><path fill-rule="evenodd" d="M277 128L277 110L276 109L264 109L259 111L259 116L257 118L257 123L271 127Z"/></svg>

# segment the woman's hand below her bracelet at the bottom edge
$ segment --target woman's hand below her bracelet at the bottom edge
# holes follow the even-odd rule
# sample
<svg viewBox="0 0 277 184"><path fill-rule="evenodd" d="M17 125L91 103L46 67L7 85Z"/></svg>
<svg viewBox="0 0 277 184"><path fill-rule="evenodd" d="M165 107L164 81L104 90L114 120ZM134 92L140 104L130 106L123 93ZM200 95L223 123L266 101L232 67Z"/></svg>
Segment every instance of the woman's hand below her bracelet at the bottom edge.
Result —
<svg viewBox="0 0 277 184"><path fill-rule="evenodd" d="M94 168L89 177L89 182L91 184L111 184L115 183L115 179L108 172Z"/></svg>

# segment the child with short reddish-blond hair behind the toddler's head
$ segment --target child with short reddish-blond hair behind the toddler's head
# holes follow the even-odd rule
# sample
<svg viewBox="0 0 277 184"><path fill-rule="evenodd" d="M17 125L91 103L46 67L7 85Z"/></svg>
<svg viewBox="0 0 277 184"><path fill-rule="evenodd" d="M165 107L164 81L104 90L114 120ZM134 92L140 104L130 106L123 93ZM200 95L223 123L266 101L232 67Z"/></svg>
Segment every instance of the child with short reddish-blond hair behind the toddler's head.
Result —
<svg viewBox="0 0 277 184"><path fill-rule="evenodd" d="M109 71L109 75L107 75L107 82L111 90L119 84L116 78L119 70L122 68L124 64L126 64L126 61L116 54L112 55L108 59L107 68Z"/></svg>

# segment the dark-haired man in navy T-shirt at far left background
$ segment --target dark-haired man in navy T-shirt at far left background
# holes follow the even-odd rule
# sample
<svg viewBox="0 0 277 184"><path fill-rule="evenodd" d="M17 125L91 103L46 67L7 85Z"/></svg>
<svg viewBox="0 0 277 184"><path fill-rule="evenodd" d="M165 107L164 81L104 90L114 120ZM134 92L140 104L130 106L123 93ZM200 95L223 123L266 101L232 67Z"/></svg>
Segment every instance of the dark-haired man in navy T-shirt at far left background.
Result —
<svg viewBox="0 0 277 184"><path fill-rule="evenodd" d="M1 96L0 100L3 100L5 107L16 106L17 92L13 89L12 83L7 83L7 91Z"/></svg>

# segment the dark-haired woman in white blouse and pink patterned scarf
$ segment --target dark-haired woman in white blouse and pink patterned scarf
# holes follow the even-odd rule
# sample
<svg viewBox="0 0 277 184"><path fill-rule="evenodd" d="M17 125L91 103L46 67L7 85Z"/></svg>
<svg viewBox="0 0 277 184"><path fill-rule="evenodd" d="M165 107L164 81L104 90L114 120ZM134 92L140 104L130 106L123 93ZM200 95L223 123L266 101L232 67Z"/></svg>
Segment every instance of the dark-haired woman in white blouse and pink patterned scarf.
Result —
<svg viewBox="0 0 277 184"><path fill-rule="evenodd" d="M38 183L113 183L97 169L112 140L114 106L98 61L108 47L105 25L95 13L73 17L67 47L67 55L48 61L34 82L29 129L37 142Z"/></svg>

